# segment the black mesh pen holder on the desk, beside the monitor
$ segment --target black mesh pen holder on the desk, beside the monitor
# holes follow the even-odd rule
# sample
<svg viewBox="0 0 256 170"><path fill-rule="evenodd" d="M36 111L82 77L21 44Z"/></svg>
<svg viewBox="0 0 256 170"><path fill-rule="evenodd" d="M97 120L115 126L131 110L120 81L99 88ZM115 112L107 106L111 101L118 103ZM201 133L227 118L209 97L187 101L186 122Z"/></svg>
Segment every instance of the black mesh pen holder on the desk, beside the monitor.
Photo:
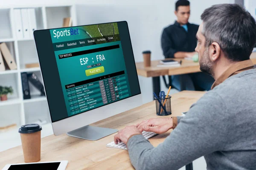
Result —
<svg viewBox="0 0 256 170"><path fill-rule="evenodd" d="M168 115L172 114L172 107L171 107L171 97L172 96L168 96L167 98L160 98L159 96L157 96L157 97L158 98L154 98L156 101L157 116L168 116ZM166 100L166 102L165 102L164 108L166 111L163 109L163 111L161 113L161 110L163 107L160 105L160 102L163 105L165 100Z"/></svg>

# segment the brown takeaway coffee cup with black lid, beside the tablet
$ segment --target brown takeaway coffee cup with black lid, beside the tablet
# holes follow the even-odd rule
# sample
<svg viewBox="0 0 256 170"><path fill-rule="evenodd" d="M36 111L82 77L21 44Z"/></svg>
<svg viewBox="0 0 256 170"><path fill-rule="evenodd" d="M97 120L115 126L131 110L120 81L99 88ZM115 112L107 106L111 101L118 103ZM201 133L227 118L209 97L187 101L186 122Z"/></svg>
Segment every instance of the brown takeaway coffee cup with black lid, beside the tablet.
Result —
<svg viewBox="0 0 256 170"><path fill-rule="evenodd" d="M38 124L22 125L19 129L25 162L41 159L41 130Z"/></svg>

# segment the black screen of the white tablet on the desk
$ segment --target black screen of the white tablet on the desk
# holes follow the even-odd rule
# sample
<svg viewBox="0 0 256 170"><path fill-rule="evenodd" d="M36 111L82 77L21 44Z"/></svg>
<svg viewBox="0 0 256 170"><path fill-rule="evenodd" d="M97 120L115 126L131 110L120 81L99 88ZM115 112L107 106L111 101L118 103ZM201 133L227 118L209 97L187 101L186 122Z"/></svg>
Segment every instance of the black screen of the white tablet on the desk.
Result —
<svg viewBox="0 0 256 170"><path fill-rule="evenodd" d="M57 170L61 162L11 165L8 170Z"/></svg>

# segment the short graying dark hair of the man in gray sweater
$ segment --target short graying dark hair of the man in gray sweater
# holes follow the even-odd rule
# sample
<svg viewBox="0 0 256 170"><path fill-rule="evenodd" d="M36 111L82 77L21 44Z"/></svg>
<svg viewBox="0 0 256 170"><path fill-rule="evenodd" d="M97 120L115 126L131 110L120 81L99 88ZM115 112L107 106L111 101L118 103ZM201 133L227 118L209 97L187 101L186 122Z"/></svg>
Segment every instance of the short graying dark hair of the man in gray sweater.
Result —
<svg viewBox="0 0 256 170"><path fill-rule="evenodd" d="M255 19L238 4L218 4L201 15L205 46L217 42L232 61L250 59L256 43Z"/></svg>

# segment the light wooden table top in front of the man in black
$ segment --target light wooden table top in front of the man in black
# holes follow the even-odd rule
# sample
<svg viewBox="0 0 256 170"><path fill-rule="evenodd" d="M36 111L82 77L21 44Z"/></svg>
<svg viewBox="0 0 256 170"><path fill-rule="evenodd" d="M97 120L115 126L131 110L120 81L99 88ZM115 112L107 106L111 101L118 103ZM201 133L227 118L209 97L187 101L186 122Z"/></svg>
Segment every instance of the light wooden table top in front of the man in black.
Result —
<svg viewBox="0 0 256 170"><path fill-rule="evenodd" d="M252 53L250 59L256 64L256 52ZM180 59L175 59L180 61ZM158 77L164 75L178 75L200 72L200 66L198 62L193 62L186 59L181 59L182 64L180 67L157 67L160 60L151 61L150 67L144 67L143 62L137 62L136 68L139 76L143 77Z"/></svg>

